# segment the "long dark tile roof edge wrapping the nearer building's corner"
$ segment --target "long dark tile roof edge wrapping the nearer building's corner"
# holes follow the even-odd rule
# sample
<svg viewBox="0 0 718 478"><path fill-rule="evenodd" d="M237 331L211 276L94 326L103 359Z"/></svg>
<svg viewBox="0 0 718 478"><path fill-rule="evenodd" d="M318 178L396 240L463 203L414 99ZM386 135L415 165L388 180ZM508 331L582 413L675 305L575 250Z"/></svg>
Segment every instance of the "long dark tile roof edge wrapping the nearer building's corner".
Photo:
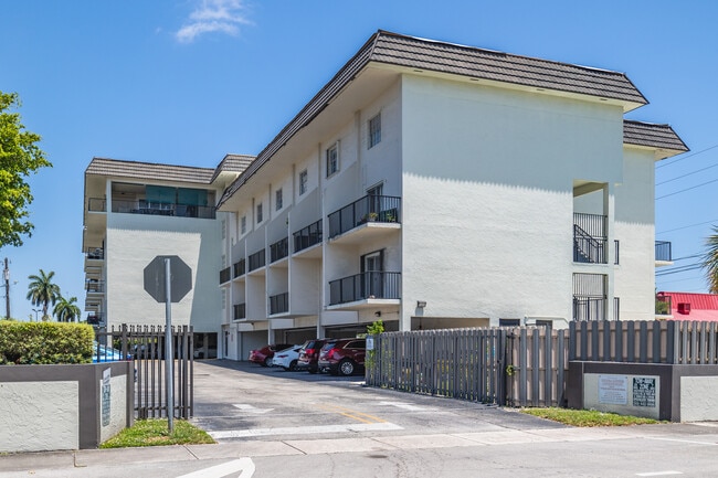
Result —
<svg viewBox="0 0 718 478"><path fill-rule="evenodd" d="M623 73L405 36L380 30L224 191L218 208L231 198L242 184L246 183L299 129L319 115L326 105L370 63L391 64L617 99L631 103L634 105L633 107L648 103Z"/></svg>

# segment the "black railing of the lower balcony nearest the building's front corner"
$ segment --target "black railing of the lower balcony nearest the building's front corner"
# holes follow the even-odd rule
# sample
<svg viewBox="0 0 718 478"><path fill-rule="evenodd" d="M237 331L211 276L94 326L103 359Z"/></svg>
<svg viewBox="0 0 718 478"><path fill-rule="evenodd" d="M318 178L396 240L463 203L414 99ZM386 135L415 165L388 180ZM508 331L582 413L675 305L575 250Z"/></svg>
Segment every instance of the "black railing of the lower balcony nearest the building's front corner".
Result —
<svg viewBox="0 0 718 478"><path fill-rule="evenodd" d="M366 299L401 299L401 273L368 272L329 283L329 305Z"/></svg>

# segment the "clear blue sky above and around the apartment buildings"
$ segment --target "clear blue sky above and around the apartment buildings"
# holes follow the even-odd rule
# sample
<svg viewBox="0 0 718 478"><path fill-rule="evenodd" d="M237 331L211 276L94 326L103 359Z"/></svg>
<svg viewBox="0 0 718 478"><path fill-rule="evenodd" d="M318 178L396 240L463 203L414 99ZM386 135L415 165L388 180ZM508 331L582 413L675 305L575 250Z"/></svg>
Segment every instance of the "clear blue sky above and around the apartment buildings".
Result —
<svg viewBox="0 0 718 478"><path fill-rule="evenodd" d="M690 266L718 224L716 2L0 0L0 91L20 95L54 164L30 178L32 237L0 248L19 319L34 316L27 277L40 268L84 308L93 157L214 167L255 155L379 29L625 72L651 102L627 117L668 123L691 149L656 169L656 238ZM706 291L699 269L656 285Z"/></svg>

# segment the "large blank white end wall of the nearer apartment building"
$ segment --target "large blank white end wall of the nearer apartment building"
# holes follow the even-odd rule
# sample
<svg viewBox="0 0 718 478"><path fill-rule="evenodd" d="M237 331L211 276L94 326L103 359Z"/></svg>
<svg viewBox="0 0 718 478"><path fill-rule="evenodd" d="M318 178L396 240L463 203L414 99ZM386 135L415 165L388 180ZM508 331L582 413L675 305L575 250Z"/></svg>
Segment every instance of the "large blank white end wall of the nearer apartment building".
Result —
<svg viewBox="0 0 718 478"><path fill-rule="evenodd" d="M402 328L571 317L572 188L617 182L620 108L404 76Z"/></svg>

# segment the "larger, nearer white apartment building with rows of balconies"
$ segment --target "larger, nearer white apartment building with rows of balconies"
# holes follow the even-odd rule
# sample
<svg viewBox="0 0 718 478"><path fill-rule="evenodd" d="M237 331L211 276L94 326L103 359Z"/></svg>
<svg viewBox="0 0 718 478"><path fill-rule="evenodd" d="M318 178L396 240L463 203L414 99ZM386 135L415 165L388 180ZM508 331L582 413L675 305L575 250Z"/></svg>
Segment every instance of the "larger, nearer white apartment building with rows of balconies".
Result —
<svg viewBox="0 0 718 478"><path fill-rule="evenodd" d="M222 355L377 319L652 319L654 163L687 147L624 119L646 103L622 73L379 31L218 200Z"/></svg>

